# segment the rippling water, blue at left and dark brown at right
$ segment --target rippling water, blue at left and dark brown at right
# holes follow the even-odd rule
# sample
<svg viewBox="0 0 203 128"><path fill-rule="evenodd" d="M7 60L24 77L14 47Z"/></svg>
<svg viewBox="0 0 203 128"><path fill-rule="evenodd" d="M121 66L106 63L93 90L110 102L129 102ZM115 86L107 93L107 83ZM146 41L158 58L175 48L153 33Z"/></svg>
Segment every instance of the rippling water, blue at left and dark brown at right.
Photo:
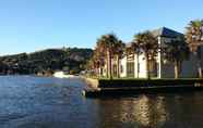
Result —
<svg viewBox="0 0 203 128"><path fill-rule="evenodd" d="M0 77L0 128L203 128L203 92L85 99L84 86Z"/></svg>

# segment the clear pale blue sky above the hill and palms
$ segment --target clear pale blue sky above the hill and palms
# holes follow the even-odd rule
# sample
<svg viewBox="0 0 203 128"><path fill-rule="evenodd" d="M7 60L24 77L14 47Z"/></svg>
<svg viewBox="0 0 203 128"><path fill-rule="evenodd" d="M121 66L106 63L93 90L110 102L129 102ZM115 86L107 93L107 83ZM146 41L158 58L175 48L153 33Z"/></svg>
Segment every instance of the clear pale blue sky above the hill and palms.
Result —
<svg viewBox="0 0 203 128"><path fill-rule="evenodd" d="M109 33L124 42L163 26L184 33L196 18L202 0L0 0L0 55L94 48Z"/></svg>

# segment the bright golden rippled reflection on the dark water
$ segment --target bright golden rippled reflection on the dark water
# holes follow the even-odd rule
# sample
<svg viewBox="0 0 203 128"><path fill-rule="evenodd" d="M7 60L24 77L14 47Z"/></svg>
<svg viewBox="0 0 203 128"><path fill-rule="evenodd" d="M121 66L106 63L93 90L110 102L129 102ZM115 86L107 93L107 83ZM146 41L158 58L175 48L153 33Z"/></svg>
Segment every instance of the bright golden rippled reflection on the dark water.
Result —
<svg viewBox="0 0 203 128"><path fill-rule="evenodd" d="M147 97L142 95L138 103L134 104L134 119L141 126L151 128L163 126L168 117L164 98L162 97L150 100Z"/></svg>

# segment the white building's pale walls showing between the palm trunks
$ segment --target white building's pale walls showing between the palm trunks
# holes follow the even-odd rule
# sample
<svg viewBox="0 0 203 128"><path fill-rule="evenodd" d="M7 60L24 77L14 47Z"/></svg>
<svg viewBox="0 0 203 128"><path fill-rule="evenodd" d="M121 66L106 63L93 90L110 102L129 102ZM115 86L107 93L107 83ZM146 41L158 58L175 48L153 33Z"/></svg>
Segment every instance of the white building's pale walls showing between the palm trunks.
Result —
<svg viewBox="0 0 203 128"><path fill-rule="evenodd" d="M158 40L162 47L165 47L165 42L169 42L170 38L164 38L158 37ZM138 74L138 60L136 55L134 55L134 74L135 78L146 78L146 60L144 59L144 54L139 55L139 74ZM174 69L174 63L164 62L164 59L162 59L162 54L159 53L157 56L157 63L159 64L159 78L174 78L175 77L175 69ZM203 60L203 47L202 47L202 60ZM120 77L127 77L127 56L124 56L122 60L120 60L120 65L122 65L122 73L120 72ZM202 63L203 67L203 63ZM120 68L121 69L121 68ZM196 67L196 59L193 54L190 55L190 60L182 62L182 69L180 73L180 78L190 78L190 77L196 77L198 75L198 67Z"/></svg>

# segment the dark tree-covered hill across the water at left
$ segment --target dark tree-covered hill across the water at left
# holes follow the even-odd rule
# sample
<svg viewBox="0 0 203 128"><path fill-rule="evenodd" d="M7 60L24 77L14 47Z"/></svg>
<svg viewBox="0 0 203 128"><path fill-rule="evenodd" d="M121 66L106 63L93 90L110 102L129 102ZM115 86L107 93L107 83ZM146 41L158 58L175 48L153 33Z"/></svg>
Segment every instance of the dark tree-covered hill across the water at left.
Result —
<svg viewBox="0 0 203 128"><path fill-rule="evenodd" d="M0 74L51 74L61 69L79 74L92 53L91 49L62 48L4 55L0 56Z"/></svg>

